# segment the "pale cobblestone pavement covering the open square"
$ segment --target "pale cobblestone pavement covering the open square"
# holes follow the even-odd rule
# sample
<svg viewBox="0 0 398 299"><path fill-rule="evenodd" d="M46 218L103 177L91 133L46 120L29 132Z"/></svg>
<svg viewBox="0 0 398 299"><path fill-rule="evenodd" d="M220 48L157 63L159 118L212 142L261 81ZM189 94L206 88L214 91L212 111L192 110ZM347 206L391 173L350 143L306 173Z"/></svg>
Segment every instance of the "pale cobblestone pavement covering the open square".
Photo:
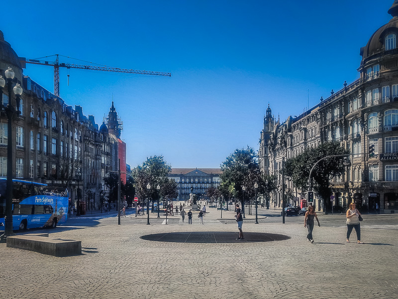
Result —
<svg viewBox="0 0 398 299"><path fill-rule="evenodd" d="M398 298L398 234L366 228L365 223L363 245L356 244L354 233L352 242L345 243L341 222L315 227L315 243L310 244L302 218L296 218L300 223L266 222L267 218L258 225L250 219L243 224L244 232L291 237L285 241L192 244L140 239L188 230L236 232L233 218L221 225L214 221L218 212L210 210L204 225L179 225L178 217L172 217L170 225L161 225L162 218L145 225L143 217L126 217L118 226L116 218L109 217L93 227L74 226L71 220L67 227L45 230L52 238L81 240L83 254L74 257L0 244L0 298ZM230 219L233 213L225 215ZM320 216L321 225L324 218Z"/></svg>

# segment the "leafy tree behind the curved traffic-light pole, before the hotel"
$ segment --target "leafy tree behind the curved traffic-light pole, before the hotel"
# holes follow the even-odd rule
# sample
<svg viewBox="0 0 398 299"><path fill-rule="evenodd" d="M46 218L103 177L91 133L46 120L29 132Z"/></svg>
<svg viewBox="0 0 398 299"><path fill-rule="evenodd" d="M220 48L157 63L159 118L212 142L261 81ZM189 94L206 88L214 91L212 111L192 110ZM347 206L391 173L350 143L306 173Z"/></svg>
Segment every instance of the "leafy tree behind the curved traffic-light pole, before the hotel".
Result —
<svg viewBox="0 0 398 299"><path fill-rule="evenodd" d="M308 176L312 166L321 158L329 155L348 154L350 151L340 147L338 142L325 142L317 148L304 150L285 163L285 175L293 180L293 184L302 189L307 189ZM312 170L311 185L315 192L323 199L325 212L331 210L328 200L332 191L330 178L341 175L345 171L345 157L331 157L320 161Z"/></svg>

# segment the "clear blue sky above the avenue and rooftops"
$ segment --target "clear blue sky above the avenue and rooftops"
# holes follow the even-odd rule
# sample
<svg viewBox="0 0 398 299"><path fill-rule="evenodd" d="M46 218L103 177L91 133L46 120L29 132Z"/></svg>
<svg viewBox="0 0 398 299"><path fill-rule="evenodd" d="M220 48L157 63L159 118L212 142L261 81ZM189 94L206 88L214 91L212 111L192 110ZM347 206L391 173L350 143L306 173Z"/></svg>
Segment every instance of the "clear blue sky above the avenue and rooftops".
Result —
<svg viewBox="0 0 398 299"><path fill-rule="evenodd" d="M19 56L62 54L172 77L60 69L60 95L101 124L112 94L132 167L219 167L258 149L270 102L281 120L359 77L359 49L393 0L3 1L0 29ZM10 13L8 13L10 12ZM60 62L87 64L60 58ZM53 91L53 69L24 70Z"/></svg>

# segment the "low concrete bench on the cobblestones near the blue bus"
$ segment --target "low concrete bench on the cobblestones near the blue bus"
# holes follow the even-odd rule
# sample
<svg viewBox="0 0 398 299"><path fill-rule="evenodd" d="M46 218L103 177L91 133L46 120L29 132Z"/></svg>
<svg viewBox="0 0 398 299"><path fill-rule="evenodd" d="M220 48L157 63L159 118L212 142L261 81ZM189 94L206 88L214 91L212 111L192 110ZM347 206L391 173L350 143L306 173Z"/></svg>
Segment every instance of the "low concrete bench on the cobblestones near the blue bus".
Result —
<svg viewBox="0 0 398 299"><path fill-rule="evenodd" d="M82 241L53 240L41 236L7 237L7 247L35 251L56 257L82 254Z"/></svg>

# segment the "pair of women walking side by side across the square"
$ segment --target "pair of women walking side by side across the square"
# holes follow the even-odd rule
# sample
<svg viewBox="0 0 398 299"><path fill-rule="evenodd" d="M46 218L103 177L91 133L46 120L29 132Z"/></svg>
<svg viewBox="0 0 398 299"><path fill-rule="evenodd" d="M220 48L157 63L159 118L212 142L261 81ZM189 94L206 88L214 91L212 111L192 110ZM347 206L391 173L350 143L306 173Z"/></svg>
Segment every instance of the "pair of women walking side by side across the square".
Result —
<svg viewBox="0 0 398 299"><path fill-rule="evenodd" d="M314 218L319 224L318 216L316 215L316 212L314 210L313 206L308 207L308 211L305 213L304 217L304 227L308 229L308 234L307 234L307 241L314 243L314 239L312 237L312 230L314 229ZM350 236L351 232L353 229L355 229L355 232L357 233L357 243L358 244L364 244L361 241L361 224L360 221L362 220L362 215L361 213L356 209L355 203L351 202L350 203L350 208L346 212L346 224L347 224L347 239L346 242L350 242Z"/></svg>

